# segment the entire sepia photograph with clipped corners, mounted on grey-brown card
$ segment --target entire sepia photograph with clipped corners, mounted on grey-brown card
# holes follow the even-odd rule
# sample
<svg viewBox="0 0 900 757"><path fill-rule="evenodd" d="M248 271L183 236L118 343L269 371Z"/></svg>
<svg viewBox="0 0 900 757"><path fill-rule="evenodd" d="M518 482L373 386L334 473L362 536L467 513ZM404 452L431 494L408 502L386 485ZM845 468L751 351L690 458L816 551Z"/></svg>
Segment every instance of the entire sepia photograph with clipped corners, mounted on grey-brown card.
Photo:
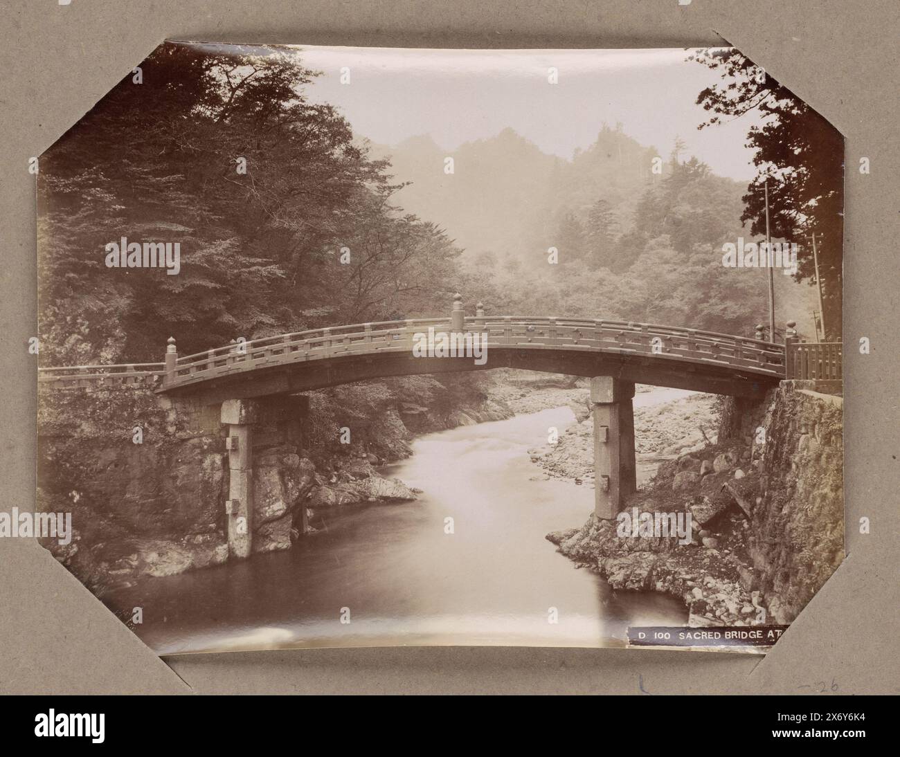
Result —
<svg viewBox="0 0 900 757"><path fill-rule="evenodd" d="M169 40L35 160L0 532L157 655L759 655L845 556L844 138L739 49Z"/></svg>

